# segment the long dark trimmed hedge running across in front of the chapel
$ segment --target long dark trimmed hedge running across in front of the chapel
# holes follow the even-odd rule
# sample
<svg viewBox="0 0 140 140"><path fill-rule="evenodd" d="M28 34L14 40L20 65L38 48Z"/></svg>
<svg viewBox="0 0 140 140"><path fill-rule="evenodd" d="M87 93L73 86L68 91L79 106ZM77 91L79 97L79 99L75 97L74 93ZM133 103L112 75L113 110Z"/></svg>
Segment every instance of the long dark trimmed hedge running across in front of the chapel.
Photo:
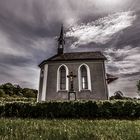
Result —
<svg viewBox="0 0 140 140"><path fill-rule="evenodd" d="M7 102L0 104L0 117L19 118L140 118L139 101Z"/></svg>

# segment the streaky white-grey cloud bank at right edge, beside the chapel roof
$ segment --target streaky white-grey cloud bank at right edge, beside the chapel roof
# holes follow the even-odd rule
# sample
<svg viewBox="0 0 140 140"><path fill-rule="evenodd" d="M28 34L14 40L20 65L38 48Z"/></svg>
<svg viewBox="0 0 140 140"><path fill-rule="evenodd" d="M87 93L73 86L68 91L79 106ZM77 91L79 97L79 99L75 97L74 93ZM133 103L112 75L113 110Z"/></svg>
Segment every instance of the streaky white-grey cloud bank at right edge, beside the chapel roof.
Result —
<svg viewBox="0 0 140 140"><path fill-rule="evenodd" d="M140 66L140 47L109 48L105 50L105 54L108 58L107 66L117 68L115 71L117 75L131 75L140 72L140 67L138 67Z"/></svg>

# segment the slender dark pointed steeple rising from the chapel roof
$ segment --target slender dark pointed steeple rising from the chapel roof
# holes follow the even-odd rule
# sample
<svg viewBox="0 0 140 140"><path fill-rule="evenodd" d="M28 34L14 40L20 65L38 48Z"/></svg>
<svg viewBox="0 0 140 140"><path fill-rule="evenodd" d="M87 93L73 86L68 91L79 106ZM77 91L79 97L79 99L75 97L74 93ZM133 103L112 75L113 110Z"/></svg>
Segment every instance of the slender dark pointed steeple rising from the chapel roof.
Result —
<svg viewBox="0 0 140 140"><path fill-rule="evenodd" d="M64 40L64 29L63 29L63 24L62 24L61 25L60 36L58 38L58 54L63 54L64 44L65 44L65 40Z"/></svg>

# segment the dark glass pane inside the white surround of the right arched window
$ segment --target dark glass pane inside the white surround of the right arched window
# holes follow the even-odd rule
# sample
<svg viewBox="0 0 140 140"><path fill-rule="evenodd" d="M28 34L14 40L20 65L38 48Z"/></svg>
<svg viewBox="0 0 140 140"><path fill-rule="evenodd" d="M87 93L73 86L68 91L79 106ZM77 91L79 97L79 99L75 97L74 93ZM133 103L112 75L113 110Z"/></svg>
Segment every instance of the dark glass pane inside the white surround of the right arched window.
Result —
<svg viewBox="0 0 140 140"><path fill-rule="evenodd" d="M88 89L87 69L84 65L81 67L81 87Z"/></svg>

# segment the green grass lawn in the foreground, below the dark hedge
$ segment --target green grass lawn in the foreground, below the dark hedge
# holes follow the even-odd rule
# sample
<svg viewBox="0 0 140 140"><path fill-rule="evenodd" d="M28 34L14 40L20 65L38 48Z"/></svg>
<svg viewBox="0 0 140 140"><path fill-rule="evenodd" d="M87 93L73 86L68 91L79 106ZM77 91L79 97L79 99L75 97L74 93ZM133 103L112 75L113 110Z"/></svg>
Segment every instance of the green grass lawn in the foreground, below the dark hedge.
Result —
<svg viewBox="0 0 140 140"><path fill-rule="evenodd" d="M140 120L0 119L0 140L140 140Z"/></svg>

